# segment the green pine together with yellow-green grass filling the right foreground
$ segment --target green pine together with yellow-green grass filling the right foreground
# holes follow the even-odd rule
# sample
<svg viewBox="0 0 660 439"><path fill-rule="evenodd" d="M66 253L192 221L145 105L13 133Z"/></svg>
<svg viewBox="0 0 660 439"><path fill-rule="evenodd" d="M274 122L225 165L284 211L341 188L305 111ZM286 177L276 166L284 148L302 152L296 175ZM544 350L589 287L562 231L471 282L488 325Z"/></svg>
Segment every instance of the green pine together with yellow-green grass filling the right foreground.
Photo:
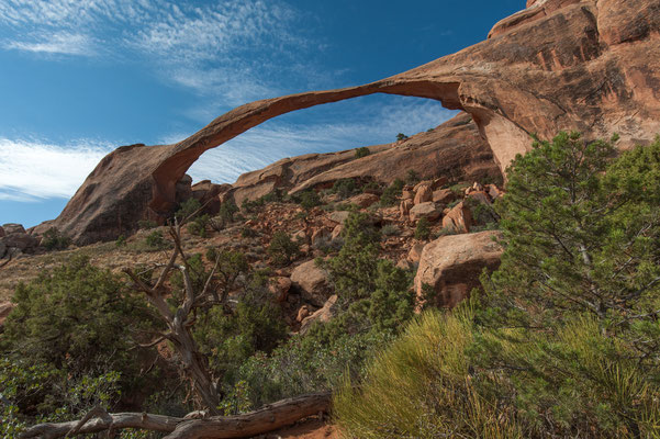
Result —
<svg viewBox="0 0 660 439"><path fill-rule="evenodd" d="M561 133L516 158L500 269L345 383L349 437L660 435L660 139L614 153Z"/></svg>

